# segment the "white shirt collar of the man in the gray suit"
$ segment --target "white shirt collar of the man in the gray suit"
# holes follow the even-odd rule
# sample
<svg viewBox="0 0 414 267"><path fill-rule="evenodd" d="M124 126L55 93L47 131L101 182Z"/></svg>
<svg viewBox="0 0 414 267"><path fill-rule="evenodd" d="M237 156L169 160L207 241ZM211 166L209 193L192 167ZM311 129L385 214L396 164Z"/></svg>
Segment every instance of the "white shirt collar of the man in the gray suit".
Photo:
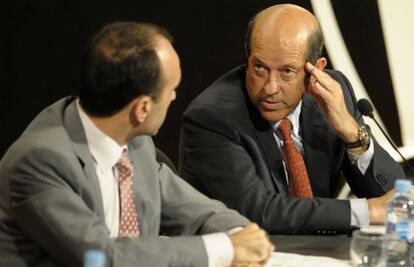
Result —
<svg viewBox="0 0 414 267"><path fill-rule="evenodd" d="M111 137L104 134L83 111L79 99L76 101L76 106L92 157L103 169L112 168L121 157L122 150L126 149L126 145L120 146Z"/></svg>

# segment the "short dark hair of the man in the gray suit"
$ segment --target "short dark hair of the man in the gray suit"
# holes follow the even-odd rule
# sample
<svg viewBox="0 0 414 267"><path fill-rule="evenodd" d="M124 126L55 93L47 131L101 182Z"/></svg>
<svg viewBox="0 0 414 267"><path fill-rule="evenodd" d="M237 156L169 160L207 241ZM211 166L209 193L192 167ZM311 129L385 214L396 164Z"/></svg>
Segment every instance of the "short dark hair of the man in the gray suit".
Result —
<svg viewBox="0 0 414 267"><path fill-rule="evenodd" d="M134 98L158 99L162 83L154 39L171 35L158 26L115 22L91 39L81 71L80 103L96 116L111 116Z"/></svg>

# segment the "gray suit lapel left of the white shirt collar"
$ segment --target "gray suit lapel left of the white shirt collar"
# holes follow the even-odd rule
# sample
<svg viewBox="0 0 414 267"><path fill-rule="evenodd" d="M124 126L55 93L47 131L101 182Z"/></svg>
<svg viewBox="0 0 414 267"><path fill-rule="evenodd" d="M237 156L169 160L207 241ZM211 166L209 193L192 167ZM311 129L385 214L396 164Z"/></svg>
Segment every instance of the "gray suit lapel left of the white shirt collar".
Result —
<svg viewBox="0 0 414 267"><path fill-rule="evenodd" d="M81 197L85 200L89 207L98 214L99 217L105 220L99 181L76 107L75 97L73 97L72 103L70 103L65 109L63 123L66 132L72 141L73 149L83 167L85 173L84 182L87 185L86 188L90 191L87 194L82 194Z"/></svg>

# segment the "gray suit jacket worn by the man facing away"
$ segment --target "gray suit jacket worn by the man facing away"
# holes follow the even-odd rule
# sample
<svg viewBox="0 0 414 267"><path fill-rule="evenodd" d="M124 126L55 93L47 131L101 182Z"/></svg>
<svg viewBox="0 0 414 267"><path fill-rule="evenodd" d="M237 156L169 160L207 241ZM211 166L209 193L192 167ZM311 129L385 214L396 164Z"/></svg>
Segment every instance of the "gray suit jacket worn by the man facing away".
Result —
<svg viewBox="0 0 414 267"><path fill-rule="evenodd" d="M206 266L200 236L248 221L155 160L152 139L129 145L138 238L113 239L75 98L41 112L0 163L0 266L82 266L98 248L107 266ZM159 238L159 232L183 235Z"/></svg>

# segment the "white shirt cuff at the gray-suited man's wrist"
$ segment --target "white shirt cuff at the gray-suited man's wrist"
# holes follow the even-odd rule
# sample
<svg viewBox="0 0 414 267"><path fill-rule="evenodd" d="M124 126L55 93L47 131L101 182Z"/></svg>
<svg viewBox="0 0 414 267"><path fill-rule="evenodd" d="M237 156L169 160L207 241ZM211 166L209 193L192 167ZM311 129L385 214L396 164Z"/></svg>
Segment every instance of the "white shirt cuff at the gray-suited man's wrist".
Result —
<svg viewBox="0 0 414 267"><path fill-rule="evenodd" d="M231 265L234 251L227 234L213 233L201 237L206 247L209 267L228 267Z"/></svg>

